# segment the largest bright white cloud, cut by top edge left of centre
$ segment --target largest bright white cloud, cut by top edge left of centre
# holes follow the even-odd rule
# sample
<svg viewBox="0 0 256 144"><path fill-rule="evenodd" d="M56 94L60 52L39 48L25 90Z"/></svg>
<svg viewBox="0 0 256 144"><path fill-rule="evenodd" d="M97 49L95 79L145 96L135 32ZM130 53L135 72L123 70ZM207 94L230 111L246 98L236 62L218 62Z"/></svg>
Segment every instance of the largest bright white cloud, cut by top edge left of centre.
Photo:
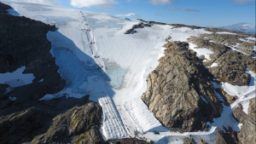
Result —
<svg viewBox="0 0 256 144"><path fill-rule="evenodd" d="M103 9L117 3L114 0L70 0L70 4L77 8L97 7Z"/></svg>

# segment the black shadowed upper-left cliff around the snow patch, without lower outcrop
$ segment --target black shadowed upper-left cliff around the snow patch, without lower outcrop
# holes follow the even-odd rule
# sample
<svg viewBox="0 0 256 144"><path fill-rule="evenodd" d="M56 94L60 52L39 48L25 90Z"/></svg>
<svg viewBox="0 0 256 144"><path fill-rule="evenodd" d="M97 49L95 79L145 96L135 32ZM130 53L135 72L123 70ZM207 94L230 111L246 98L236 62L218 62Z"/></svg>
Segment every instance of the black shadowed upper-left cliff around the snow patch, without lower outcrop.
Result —
<svg viewBox="0 0 256 144"><path fill-rule="evenodd" d="M33 73L36 77L32 84L0 94L0 99L17 97L15 103L20 99L38 100L64 88L65 81L57 72L59 67L49 53L51 44L46 38L46 33L53 27L26 17L0 14L0 72L14 72L26 66L23 73ZM38 83L41 79L44 81ZM3 106L0 104L0 107Z"/></svg>

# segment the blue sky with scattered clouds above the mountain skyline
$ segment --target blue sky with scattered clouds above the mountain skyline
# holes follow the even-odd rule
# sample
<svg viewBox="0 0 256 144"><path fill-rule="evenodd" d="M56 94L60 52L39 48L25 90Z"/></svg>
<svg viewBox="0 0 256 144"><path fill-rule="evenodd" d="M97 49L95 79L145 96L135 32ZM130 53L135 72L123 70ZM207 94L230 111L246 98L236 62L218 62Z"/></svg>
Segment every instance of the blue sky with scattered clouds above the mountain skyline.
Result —
<svg viewBox="0 0 256 144"><path fill-rule="evenodd" d="M130 19L195 26L255 26L255 0L20 0Z"/></svg>

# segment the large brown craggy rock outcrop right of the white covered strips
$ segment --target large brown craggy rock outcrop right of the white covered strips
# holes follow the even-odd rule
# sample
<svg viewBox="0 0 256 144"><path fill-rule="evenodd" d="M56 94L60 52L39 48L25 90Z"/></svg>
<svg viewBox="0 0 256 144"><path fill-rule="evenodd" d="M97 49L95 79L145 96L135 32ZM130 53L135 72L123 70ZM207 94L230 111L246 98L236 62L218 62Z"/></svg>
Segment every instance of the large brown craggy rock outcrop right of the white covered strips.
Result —
<svg viewBox="0 0 256 144"><path fill-rule="evenodd" d="M169 130L207 130L207 121L222 112L207 69L195 52L188 49L189 43L169 42L164 47L166 56L148 75L143 101Z"/></svg>

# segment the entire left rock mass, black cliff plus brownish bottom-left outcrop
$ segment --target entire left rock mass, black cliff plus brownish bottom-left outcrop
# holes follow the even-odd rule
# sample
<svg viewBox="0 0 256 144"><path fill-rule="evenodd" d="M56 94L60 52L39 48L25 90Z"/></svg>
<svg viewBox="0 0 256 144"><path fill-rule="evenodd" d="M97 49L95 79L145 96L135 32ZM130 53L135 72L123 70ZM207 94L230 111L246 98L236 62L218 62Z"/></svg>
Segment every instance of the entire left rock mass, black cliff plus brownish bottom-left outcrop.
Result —
<svg viewBox="0 0 256 144"><path fill-rule="evenodd" d="M0 8L9 9L3 3ZM26 66L23 73L35 77L32 84L17 88L0 84L0 143L104 143L99 132L102 107L89 101L89 95L38 101L65 86L55 58L49 53L49 31L55 31L55 26L0 14L0 72ZM44 81L39 82L41 79Z"/></svg>

